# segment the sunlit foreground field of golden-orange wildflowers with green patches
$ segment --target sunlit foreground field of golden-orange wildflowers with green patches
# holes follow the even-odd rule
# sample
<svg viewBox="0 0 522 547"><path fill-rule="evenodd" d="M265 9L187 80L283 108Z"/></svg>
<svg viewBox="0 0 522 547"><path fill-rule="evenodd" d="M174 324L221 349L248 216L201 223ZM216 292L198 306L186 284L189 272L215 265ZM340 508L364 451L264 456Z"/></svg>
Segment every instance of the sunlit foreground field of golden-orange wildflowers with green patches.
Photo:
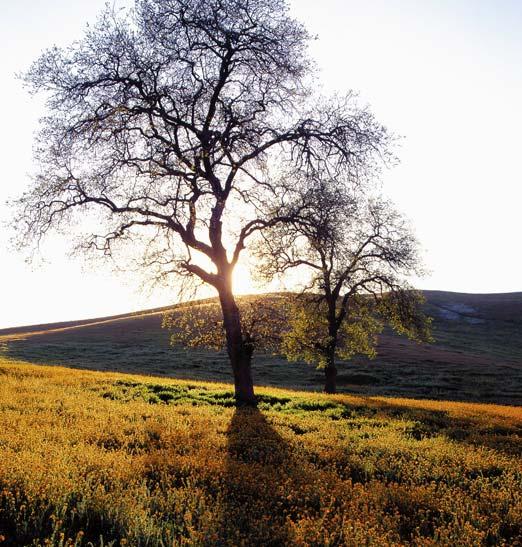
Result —
<svg viewBox="0 0 522 547"><path fill-rule="evenodd" d="M0 545L522 545L520 407L0 378Z"/></svg>

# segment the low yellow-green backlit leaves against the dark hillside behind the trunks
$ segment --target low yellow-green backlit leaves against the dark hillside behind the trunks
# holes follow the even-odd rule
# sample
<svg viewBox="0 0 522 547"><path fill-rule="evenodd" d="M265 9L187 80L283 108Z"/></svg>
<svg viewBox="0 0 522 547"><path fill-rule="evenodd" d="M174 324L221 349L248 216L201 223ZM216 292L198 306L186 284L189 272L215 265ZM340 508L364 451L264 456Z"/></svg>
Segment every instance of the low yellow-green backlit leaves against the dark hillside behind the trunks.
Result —
<svg viewBox="0 0 522 547"><path fill-rule="evenodd" d="M237 299L242 329L253 351L284 355L289 361L303 360L318 368L327 366L328 307L320 295L279 293ZM354 298L350 312L335 340L336 357L350 360L356 355L376 356L377 336L386 325L413 340L428 336L429 321L417 311L422 302L417 293L383 295L377 302L368 296ZM171 344L215 351L226 347L221 309L217 301L188 304L164 315Z"/></svg>

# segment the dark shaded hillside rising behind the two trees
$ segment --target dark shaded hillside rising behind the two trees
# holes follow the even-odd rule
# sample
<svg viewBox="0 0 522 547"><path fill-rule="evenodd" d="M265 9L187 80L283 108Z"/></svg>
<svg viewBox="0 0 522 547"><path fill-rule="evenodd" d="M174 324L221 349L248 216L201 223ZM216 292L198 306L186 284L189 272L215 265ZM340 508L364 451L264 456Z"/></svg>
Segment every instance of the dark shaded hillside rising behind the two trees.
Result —
<svg viewBox="0 0 522 547"><path fill-rule="evenodd" d="M522 293L426 291L436 342L383 335L374 361L340 366L342 391L367 395L522 404ZM226 356L169 346L161 308L91 321L0 331L5 357L98 370L229 381ZM36 334L34 334L36 333ZM258 385L321 389L304 363L258 355Z"/></svg>

